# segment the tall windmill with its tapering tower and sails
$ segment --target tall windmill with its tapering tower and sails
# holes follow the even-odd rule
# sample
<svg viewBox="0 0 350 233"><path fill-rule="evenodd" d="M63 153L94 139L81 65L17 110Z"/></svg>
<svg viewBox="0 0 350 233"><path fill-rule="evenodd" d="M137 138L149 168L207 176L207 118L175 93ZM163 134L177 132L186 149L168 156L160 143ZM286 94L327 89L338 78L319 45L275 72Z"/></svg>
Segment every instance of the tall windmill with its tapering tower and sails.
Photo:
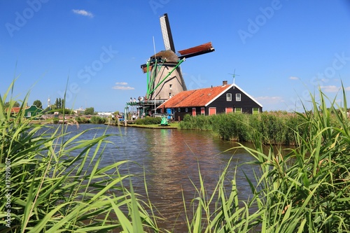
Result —
<svg viewBox="0 0 350 233"><path fill-rule="evenodd" d="M165 50L151 56L147 64L141 65L141 69L147 73L146 98L150 100L166 100L187 90L180 64L188 57L214 52L211 42L176 52L166 13L160 17L160 27Z"/></svg>

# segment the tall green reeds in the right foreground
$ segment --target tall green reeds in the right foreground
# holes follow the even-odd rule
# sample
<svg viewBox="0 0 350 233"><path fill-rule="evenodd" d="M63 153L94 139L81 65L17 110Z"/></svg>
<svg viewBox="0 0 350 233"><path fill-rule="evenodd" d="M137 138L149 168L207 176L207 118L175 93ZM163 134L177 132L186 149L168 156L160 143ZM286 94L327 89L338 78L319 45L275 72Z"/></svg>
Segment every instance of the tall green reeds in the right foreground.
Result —
<svg viewBox="0 0 350 233"><path fill-rule="evenodd" d="M342 94L345 110L344 88ZM235 178L230 192L225 190L227 169L209 196L200 174L190 211L193 216L186 218L189 232L350 232L350 122L346 111L335 111L341 106L332 101L326 108L321 90L319 95L321 102L313 99L312 111L305 109L305 114L292 118L286 113L260 115L261 125L255 125L277 134L270 139L274 143L290 134L279 132L288 123L295 128L290 127L295 147L283 152L263 146L262 134L255 135L255 149L237 147L255 157L248 164L258 164L260 171L255 172L255 180L246 176L252 192L247 202L237 198ZM211 210L210 206L216 207Z"/></svg>

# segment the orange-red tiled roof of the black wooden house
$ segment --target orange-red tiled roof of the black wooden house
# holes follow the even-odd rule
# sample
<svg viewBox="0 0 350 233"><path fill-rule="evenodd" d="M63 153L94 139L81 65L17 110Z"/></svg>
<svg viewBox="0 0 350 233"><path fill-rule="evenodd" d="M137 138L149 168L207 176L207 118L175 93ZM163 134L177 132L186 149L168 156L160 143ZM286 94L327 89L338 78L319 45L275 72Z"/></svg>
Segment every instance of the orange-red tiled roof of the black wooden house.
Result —
<svg viewBox="0 0 350 233"><path fill-rule="evenodd" d="M165 101L158 108L184 108L191 106L206 106L211 100L219 97L232 85L218 87L209 87L197 90L188 90L176 94L174 97Z"/></svg>

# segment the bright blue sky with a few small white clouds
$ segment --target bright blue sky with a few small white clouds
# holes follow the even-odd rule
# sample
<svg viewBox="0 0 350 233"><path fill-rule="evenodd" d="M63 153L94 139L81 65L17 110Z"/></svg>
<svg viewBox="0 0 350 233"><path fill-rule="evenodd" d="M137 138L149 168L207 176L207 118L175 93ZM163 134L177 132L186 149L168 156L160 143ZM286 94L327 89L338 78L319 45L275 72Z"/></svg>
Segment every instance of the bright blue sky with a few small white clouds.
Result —
<svg viewBox="0 0 350 233"><path fill-rule="evenodd" d="M0 94L13 78L29 104L123 111L146 94L140 65L164 50L167 13L176 50L211 41L215 52L181 64L188 89L235 83L264 111L302 111L321 88L350 95L350 1L0 0ZM348 97L349 100L349 97Z"/></svg>

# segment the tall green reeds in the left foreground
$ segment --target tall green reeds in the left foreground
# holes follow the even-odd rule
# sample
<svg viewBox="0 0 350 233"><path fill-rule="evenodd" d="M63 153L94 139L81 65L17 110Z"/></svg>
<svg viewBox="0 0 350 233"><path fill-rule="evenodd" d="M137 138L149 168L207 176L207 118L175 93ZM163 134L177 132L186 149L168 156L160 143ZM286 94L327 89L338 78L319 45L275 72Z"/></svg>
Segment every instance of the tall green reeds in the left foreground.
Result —
<svg viewBox="0 0 350 233"><path fill-rule="evenodd" d="M4 107L8 92L0 96L0 232L156 229L130 175L119 173L128 161L99 163L109 135L86 140L64 125L34 125L24 118L26 99L16 115Z"/></svg>

